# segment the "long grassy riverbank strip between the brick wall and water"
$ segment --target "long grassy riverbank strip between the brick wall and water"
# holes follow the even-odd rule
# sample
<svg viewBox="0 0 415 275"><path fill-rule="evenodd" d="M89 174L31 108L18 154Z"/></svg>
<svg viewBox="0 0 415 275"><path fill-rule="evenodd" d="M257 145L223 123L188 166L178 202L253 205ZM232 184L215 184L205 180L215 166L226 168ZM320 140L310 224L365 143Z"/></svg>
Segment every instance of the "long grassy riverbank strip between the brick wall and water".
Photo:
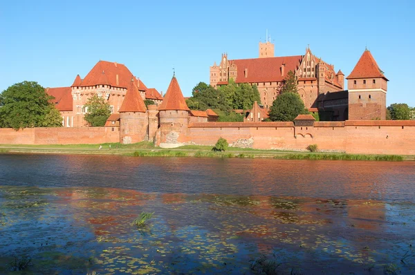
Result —
<svg viewBox="0 0 415 275"><path fill-rule="evenodd" d="M100 148L102 146L102 149ZM298 151L259 150L228 148L225 152L212 151L212 146L185 145L176 149L160 149L152 142L135 144L50 144L24 145L0 144L0 153L52 153L52 154L93 154L130 155L136 157L196 157L196 158L274 158L279 160L414 160L414 155L356 155L347 153L309 153Z"/></svg>

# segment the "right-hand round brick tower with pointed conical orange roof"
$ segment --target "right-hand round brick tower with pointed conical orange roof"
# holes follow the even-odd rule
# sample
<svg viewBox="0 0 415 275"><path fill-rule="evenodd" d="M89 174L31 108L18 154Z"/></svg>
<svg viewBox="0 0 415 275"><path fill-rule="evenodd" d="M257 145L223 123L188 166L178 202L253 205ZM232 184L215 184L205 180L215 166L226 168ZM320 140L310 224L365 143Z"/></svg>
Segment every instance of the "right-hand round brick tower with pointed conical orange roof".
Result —
<svg viewBox="0 0 415 275"><path fill-rule="evenodd" d="M167 88L163 103L158 107L160 118L160 147L174 148L186 142L189 107L185 102L176 77Z"/></svg>

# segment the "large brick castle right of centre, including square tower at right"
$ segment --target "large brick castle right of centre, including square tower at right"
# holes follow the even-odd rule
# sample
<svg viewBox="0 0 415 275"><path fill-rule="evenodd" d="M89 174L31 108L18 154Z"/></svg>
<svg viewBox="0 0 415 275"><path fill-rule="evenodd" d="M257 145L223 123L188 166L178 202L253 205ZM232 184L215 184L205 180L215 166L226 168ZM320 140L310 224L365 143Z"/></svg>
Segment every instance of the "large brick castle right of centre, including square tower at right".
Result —
<svg viewBox="0 0 415 275"><path fill-rule="evenodd" d="M306 48L304 55L274 57L274 44L259 42L259 57L228 59L224 53L221 63L210 67L210 85L226 85L230 79L237 84L256 85L264 108L269 109L279 95L288 71L297 77L297 88L309 111L322 113L326 120L386 119L388 79L383 75L369 50L365 50L347 77L335 73L334 66ZM261 115L264 117L264 115Z"/></svg>

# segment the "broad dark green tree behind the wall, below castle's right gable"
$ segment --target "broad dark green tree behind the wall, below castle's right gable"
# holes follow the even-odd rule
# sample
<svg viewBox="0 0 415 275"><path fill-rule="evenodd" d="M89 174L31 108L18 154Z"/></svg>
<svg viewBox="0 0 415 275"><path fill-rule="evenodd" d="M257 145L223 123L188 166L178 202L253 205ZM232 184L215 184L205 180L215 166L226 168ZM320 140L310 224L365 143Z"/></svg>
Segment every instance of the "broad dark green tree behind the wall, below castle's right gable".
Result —
<svg viewBox="0 0 415 275"><path fill-rule="evenodd" d="M283 93L277 96L270 108L270 120L290 122L300 114L306 114L304 102L297 93Z"/></svg>

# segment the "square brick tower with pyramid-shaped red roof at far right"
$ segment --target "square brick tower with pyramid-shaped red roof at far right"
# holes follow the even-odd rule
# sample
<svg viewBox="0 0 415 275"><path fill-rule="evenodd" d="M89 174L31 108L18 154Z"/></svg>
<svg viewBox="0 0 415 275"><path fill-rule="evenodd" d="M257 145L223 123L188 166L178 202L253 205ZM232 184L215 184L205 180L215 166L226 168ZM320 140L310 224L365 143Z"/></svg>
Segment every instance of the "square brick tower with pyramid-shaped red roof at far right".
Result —
<svg viewBox="0 0 415 275"><path fill-rule="evenodd" d="M386 120L389 81L369 50L365 50L347 79L349 120Z"/></svg>

